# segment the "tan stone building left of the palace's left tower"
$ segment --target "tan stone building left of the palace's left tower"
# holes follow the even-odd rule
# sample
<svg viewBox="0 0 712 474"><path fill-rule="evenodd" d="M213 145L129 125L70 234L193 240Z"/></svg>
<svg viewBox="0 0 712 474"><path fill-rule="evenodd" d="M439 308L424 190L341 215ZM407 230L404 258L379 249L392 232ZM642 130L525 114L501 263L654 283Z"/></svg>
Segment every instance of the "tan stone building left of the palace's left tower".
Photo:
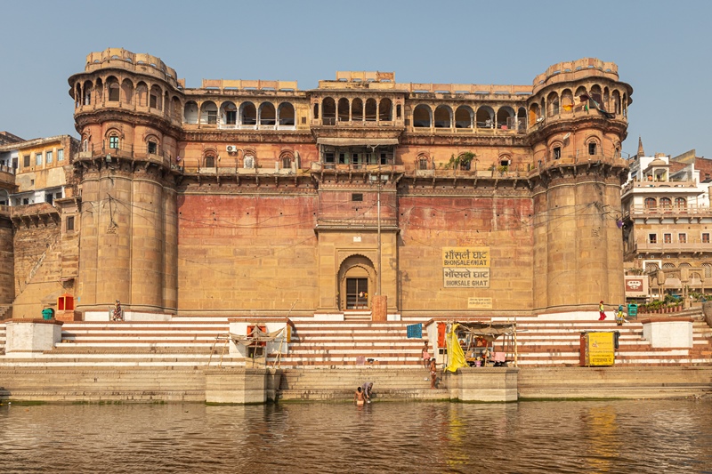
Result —
<svg viewBox="0 0 712 474"><path fill-rule="evenodd" d="M0 316L39 317L67 290L53 261L62 258L60 203L75 196L79 141L0 137Z"/></svg>

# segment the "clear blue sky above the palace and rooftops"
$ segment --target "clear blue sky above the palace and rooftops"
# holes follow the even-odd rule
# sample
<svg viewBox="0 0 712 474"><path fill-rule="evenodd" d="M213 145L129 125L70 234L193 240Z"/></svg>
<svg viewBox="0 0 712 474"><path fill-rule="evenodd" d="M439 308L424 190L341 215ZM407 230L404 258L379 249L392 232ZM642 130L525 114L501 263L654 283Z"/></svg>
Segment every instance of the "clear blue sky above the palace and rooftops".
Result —
<svg viewBox="0 0 712 474"><path fill-rule="evenodd" d="M185 77L296 80L394 71L398 82L531 84L595 57L633 86L628 138L646 154L712 158L712 2L0 0L0 130L77 136L67 78L123 47Z"/></svg>

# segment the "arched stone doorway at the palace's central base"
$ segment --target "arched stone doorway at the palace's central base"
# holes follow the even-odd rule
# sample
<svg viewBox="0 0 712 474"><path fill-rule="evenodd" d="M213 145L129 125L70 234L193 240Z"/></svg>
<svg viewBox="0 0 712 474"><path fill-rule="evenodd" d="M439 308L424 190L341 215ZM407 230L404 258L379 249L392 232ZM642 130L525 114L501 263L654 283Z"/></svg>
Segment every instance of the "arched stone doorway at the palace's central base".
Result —
<svg viewBox="0 0 712 474"><path fill-rule="evenodd" d="M373 262L360 254L345 258L339 267L337 285L340 310L370 310L370 296L376 290Z"/></svg>

